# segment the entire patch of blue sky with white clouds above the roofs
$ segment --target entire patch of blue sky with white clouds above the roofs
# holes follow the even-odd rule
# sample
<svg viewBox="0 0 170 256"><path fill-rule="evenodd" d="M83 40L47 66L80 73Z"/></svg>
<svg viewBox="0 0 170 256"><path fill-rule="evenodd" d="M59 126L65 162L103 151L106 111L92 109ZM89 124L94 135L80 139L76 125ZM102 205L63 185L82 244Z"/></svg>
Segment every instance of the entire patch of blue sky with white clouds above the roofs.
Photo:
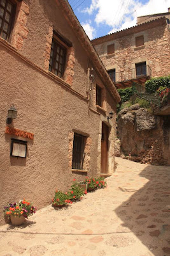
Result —
<svg viewBox="0 0 170 256"><path fill-rule="evenodd" d="M68 0L90 39L130 28L139 16L167 12L170 0Z"/></svg>

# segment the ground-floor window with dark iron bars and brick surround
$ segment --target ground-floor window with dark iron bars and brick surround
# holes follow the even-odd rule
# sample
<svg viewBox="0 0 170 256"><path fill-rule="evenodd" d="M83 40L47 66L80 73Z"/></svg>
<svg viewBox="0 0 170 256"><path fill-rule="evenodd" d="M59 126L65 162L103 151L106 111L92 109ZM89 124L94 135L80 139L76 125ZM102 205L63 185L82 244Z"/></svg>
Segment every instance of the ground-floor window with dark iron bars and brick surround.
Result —
<svg viewBox="0 0 170 256"><path fill-rule="evenodd" d="M72 169L83 169L85 136L74 133Z"/></svg>

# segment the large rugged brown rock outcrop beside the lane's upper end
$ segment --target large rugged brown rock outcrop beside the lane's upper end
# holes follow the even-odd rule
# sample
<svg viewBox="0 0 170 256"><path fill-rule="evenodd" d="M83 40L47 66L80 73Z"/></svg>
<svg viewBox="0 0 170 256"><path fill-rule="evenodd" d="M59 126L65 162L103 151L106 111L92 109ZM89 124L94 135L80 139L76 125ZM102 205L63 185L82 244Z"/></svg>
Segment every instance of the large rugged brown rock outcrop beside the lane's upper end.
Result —
<svg viewBox="0 0 170 256"><path fill-rule="evenodd" d="M155 116L135 104L118 114L115 156L149 164L170 164L170 116Z"/></svg>

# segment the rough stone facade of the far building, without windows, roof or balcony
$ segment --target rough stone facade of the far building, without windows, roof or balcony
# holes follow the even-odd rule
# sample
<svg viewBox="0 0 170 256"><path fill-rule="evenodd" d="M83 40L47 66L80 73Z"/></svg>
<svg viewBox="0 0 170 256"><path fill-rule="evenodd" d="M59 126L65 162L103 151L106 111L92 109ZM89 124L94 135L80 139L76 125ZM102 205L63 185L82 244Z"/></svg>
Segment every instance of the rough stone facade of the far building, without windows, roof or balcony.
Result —
<svg viewBox="0 0 170 256"><path fill-rule="evenodd" d="M136 47L135 38L141 35L144 36L144 45ZM152 70L152 77L169 75L170 42L167 24L153 24L151 28L146 28L143 24L139 28L134 27L132 33L129 28L113 34L112 37L111 39L111 35L108 35L101 38L104 42L98 43L98 39L92 41L106 70L115 68L115 72L127 71L135 68L136 63L146 61L146 65ZM110 44L115 44L115 53L108 55L107 45Z"/></svg>

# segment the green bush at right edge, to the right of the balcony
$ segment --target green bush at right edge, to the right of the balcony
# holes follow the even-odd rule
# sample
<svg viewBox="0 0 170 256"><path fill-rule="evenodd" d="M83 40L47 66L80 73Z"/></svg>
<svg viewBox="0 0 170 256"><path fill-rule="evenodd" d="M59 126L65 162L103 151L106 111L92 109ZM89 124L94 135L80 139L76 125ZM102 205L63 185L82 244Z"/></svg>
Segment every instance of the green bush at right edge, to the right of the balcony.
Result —
<svg viewBox="0 0 170 256"><path fill-rule="evenodd" d="M157 91L160 87L170 88L170 76L152 78L145 83L146 92L152 93L151 90Z"/></svg>

